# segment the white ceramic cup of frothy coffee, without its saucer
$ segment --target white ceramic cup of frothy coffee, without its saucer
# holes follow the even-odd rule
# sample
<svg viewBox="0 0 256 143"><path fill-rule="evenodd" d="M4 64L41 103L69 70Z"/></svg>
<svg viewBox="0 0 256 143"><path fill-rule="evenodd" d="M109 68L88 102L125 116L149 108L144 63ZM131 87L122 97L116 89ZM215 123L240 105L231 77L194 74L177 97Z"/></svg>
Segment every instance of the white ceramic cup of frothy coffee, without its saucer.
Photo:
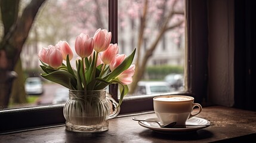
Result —
<svg viewBox="0 0 256 143"><path fill-rule="evenodd" d="M202 106L194 103L194 98L184 95L165 95L153 98L154 111L161 125L176 122L176 125L186 125L187 119L197 116ZM192 114L193 108L198 106L199 111Z"/></svg>

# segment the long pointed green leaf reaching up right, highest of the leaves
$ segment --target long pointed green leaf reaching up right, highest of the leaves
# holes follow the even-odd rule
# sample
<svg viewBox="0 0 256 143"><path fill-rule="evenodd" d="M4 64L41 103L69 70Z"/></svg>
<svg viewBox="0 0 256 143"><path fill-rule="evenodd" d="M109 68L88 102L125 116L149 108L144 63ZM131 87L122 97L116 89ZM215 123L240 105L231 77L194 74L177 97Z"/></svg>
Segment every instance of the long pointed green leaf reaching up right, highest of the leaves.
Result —
<svg viewBox="0 0 256 143"><path fill-rule="evenodd" d="M123 71L127 70L129 66L132 64L132 60L134 59L136 49L132 51L131 55L129 55L125 60L116 67L115 70L113 70L111 73L107 74L107 76L104 77L105 80L110 81L117 77L119 74L121 74Z"/></svg>

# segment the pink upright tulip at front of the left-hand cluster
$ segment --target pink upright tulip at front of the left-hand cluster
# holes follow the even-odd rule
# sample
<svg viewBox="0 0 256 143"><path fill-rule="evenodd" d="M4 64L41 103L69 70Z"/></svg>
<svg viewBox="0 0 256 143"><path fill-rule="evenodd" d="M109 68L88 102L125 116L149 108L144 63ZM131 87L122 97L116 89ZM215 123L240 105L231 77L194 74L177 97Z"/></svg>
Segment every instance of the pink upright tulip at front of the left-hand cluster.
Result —
<svg viewBox="0 0 256 143"><path fill-rule="evenodd" d="M47 60L49 66L53 68L60 67L63 61L62 54L60 48L50 45L47 49Z"/></svg>

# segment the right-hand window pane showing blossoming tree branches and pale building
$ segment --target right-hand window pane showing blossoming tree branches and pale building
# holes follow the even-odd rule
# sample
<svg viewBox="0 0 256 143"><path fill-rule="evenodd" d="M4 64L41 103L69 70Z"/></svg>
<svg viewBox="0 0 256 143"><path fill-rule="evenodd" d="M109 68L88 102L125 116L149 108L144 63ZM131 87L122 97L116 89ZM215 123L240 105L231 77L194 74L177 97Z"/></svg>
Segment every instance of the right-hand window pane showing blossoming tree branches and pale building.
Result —
<svg viewBox="0 0 256 143"><path fill-rule="evenodd" d="M184 1L118 1L119 53L136 48L127 95L184 90Z"/></svg>

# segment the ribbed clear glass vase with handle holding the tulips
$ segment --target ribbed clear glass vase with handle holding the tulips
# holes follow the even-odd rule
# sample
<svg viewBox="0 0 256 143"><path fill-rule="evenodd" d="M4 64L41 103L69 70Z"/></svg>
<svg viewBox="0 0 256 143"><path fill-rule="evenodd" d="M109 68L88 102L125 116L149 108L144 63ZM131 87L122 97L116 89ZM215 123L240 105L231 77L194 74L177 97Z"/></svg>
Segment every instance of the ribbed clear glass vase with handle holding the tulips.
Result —
<svg viewBox="0 0 256 143"><path fill-rule="evenodd" d="M106 94L106 89L97 91L69 90L69 100L63 108L66 130L73 132L103 132L109 129L109 121L118 115L118 103ZM114 107L114 109L112 108Z"/></svg>

